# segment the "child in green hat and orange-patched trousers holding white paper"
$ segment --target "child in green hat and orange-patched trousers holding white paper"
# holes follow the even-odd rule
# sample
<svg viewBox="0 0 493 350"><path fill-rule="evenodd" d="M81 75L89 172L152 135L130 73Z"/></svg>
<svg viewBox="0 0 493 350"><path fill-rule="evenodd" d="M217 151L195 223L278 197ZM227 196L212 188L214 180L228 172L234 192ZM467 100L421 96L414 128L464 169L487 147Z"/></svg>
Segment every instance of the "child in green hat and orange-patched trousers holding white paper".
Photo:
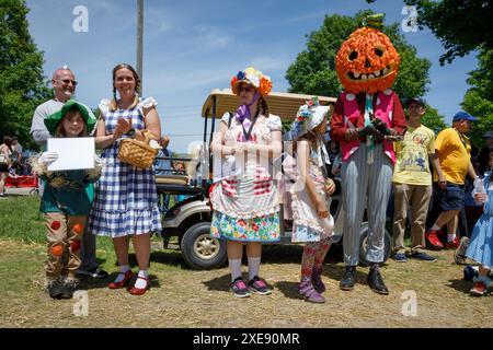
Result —
<svg viewBox="0 0 493 350"><path fill-rule="evenodd" d="M55 138L87 137L95 124L88 109L74 100L45 119ZM80 238L92 205L87 187L98 178L101 164L95 160L94 170L48 171L57 159L56 152L43 152L34 160L33 171L46 182L39 211L45 214L48 240L45 264L48 293L54 299L71 299L81 264Z"/></svg>

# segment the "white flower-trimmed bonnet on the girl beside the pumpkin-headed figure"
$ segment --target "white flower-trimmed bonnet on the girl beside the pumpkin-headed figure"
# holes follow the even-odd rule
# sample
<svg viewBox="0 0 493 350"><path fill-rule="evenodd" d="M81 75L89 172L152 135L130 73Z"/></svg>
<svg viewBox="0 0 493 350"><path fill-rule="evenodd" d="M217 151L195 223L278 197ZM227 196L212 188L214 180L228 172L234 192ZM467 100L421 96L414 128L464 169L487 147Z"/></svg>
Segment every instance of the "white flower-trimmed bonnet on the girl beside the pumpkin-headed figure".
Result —
<svg viewBox="0 0 493 350"><path fill-rule="evenodd" d="M293 138L299 138L317 128L323 118L326 118L329 106L321 106L318 97L312 97L299 107L296 118L291 124Z"/></svg>

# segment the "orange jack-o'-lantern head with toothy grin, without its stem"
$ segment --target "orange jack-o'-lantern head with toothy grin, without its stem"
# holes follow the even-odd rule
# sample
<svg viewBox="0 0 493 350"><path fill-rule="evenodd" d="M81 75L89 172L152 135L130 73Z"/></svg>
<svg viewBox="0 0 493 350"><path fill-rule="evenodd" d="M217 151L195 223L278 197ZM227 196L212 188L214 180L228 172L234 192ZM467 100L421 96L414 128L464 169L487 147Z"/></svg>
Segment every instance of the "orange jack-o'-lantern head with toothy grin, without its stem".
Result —
<svg viewBox="0 0 493 350"><path fill-rule="evenodd" d="M401 59L382 32L363 27L353 32L335 57L341 84L352 93L376 93L392 86Z"/></svg>

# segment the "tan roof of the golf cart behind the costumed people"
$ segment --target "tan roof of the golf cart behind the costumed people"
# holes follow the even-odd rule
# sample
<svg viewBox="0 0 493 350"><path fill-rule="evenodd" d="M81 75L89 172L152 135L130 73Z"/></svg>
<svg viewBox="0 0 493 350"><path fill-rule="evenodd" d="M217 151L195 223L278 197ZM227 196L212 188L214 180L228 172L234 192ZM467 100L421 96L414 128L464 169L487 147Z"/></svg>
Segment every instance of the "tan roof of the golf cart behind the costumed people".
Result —
<svg viewBox="0 0 493 350"><path fill-rule="evenodd" d="M266 97L268 110L280 117L284 121L290 121L295 118L299 106L317 95L291 94L286 92L271 92ZM336 98L318 96L321 105L335 104ZM213 105L216 100L216 118L221 118L226 112L234 112L240 105L240 98L234 95L231 89L215 89L210 92L204 106L202 107L202 117L213 117ZM331 108L332 109L332 108Z"/></svg>

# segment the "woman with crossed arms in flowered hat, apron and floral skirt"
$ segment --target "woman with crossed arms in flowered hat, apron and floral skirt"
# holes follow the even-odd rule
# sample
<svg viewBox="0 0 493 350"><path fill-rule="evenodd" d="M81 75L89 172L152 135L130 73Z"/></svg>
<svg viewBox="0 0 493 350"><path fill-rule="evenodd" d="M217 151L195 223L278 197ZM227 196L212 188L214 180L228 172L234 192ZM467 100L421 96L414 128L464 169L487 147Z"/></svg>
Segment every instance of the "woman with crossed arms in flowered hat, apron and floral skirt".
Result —
<svg viewBox="0 0 493 350"><path fill-rule="evenodd" d="M254 68L233 77L231 90L242 105L234 115L225 114L211 145L215 166L225 170L210 194L211 235L227 240L230 290L237 298L271 293L259 277L262 243L279 241L277 188L268 167L280 154L282 125L264 100L271 89L271 79ZM244 243L246 283L241 277Z"/></svg>

